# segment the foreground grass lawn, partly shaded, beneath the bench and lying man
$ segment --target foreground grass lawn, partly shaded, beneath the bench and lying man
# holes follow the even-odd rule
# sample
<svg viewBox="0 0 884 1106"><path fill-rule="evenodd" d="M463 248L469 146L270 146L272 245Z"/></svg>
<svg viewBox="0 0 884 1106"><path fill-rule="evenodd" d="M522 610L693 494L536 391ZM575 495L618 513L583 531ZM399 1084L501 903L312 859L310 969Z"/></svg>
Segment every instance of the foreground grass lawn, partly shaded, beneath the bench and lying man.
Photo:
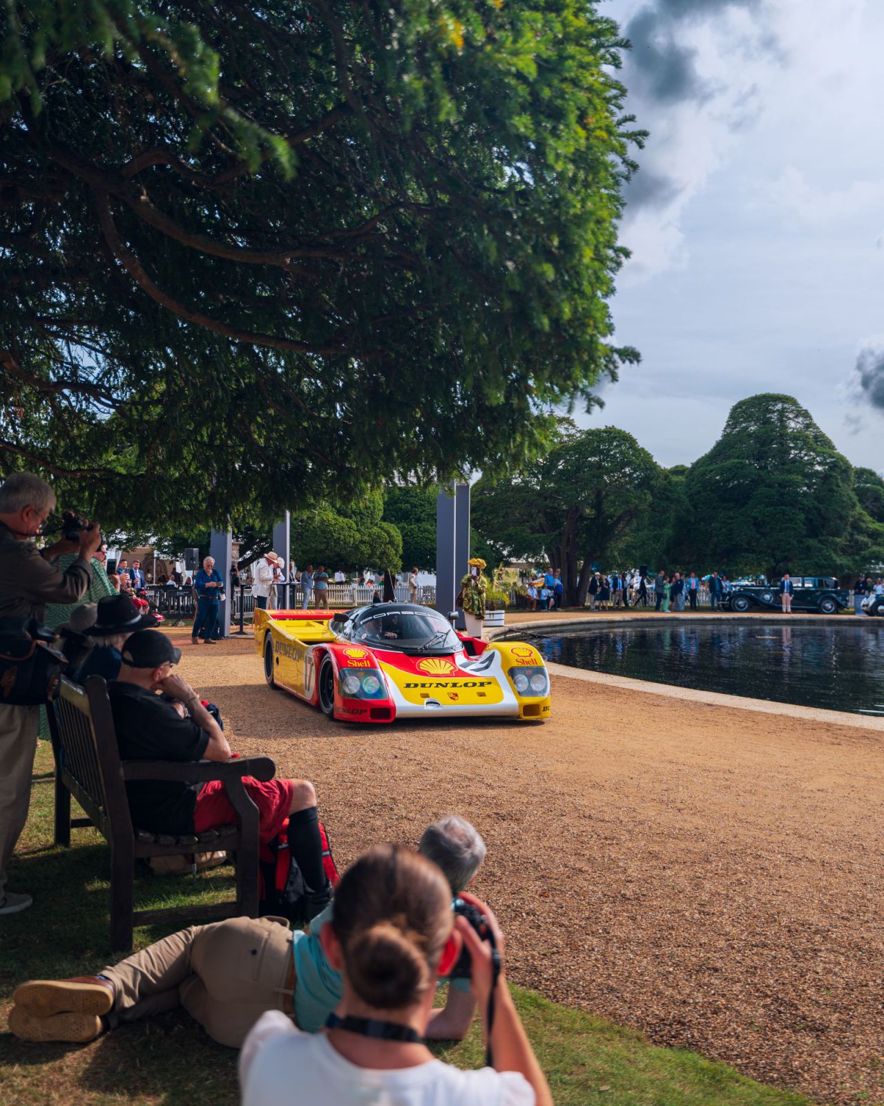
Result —
<svg viewBox="0 0 884 1106"><path fill-rule="evenodd" d="M93 831L75 845L52 841L52 755L41 745L31 818L13 862L12 889L35 905L0 922L0 1021L22 980L94 972L108 960L108 851ZM158 877L136 885L139 907L186 906L231 894L222 875ZM141 947L168 928L136 930ZM695 1053L654 1047L631 1030L514 988L516 1004L558 1106L810 1106L800 1095L766 1087ZM436 1053L480 1066L478 1026ZM0 1033L0 1103L21 1106L234 1106L236 1054L214 1044L183 1012L118 1029L88 1046L31 1045ZM284 1104L281 1104L284 1106Z"/></svg>

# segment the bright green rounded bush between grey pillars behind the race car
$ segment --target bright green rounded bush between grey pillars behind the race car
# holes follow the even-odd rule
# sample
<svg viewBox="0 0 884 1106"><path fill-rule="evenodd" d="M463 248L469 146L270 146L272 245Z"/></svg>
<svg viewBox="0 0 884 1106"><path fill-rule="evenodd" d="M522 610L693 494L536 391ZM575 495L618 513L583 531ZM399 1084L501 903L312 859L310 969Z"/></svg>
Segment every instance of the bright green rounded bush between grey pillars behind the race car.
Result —
<svg viewBox="0 0 884 1106"><path fill-rule="evenodd" d="M292 515L292 559L299 566L359 571L366 566L398 572L402 536L385 522L383 497L369 492L348 504L322 502Z"/></svg>

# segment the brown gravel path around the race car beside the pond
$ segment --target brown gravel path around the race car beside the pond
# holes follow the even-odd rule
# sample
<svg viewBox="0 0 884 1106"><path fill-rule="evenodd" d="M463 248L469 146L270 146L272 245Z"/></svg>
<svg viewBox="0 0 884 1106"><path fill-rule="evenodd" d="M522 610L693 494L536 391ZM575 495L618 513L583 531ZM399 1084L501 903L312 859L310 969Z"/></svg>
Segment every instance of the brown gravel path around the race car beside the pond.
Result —
<svg viewBox="0 0 884 1106"><path fill-rule="evenodd" d="M179 643L185 633L172 632ZM548 723L335 724L251 638L182 645L338 863L456 811L515 982L821 1103L884 1103L880 734L556 676Z"/></svg>

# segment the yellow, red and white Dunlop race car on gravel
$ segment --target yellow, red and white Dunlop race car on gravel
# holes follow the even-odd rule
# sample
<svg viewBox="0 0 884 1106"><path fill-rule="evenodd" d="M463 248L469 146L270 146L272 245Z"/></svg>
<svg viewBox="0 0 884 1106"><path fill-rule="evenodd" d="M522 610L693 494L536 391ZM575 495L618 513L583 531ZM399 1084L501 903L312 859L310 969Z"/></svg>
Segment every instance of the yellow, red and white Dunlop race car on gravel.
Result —
<svg viewBox="0 0 884 1106"><path fill-rule="evenodd" d="M457 634L430 607L256 609L254 630L267 684L340 722L549 718L549 675L534 646Z"/></svg>

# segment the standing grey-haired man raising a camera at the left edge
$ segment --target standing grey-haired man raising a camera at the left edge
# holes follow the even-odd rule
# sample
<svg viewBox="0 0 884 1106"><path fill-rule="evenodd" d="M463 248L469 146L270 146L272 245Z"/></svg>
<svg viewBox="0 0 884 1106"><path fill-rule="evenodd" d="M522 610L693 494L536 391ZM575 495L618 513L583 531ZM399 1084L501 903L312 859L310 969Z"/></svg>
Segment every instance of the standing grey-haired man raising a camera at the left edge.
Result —
<svg viewBox="0 0 884 1106"><path fill-rule="evenodd" d="M77 536L38 550L34 539L55 508L55 493L40 477L13 472L0 487L0 618L42 622L48 603L77 603L92 583L91 560L102 544L97 524L86 520ZM51 560L77 553L64 572ZM0 702L0 915L31 905L30 895L6 889L9 858L28 821L36 751L39 707Z"/></svg>

